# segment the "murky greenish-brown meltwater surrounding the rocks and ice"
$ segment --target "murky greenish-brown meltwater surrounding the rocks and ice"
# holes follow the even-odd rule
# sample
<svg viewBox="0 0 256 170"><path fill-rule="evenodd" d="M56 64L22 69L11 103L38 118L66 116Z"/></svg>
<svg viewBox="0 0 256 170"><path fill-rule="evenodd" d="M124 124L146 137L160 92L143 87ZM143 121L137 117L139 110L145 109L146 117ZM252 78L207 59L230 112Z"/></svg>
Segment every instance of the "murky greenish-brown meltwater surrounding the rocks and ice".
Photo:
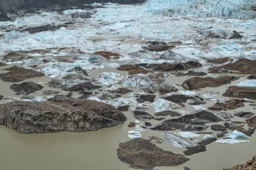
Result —
<svg viewBox="0 0 256 170"><path fill-rule="evenodd" d="M8 66L10 67L10 66ZM5 67L2 67L3 69ZM115 71L125 76L126 72L120 72L115 69L98 69L91 71L92 76L96 77L98 73ZM3 71L1 71L3 73ZM243 75L240 81L244 80L247 75ZM181 83L189 77L175 77L170 75L170 83L181 85ZM44 82L44 89L36 91L30 96L40 96L42 91L46 89L52 89L61 91L60 89L54 89L47 87L46 83L51 80L49 77L38 77L33 79L36 83ZM233 82L235 85L238 82ZM9 95L15 97L15 93L9 89L12 83L0 81L0 94ZM222 93L230 85L223 85L217 88L205 88L197 93L206 93L207 91L220 92L216 95L215 99L225 99L222 97ZM135 93L139 93L133 89ZM65 92L67 93L67 92ZM74 93L75 97L79 95ZM20 96L16 96L20 97ZM159 95L157 96L159 97ZM6 101L0 101L4 103ZM216 101L207 101L203 106L208 108ZM147 102L148 103L148 102ZM150 105L150 103L148 103ZM246 103L244 108L238 108L235 111L250 111L255 112L255 106ZM191 106L182 108L181 110L191 112L193 109ZM178 110L179 111L179 110ZM150 105L148 112L154 114L152 105ZM234 113L234 111L229 111ZM113 170L131 169L128 164L119 161L117 158L117 148L119 148L119 142L126 142L130 140L127 137L127 131L133 128L128 128L129 122L134 122L132 112L124 112L127 116L127 121L113 128L104 128L96 132L57 132L49 134L20 134L15 130L0 126L0 169L3 170ZM245 120L243 118L234 118L234 120ZM156 120L151 121L152 124L159 123ZM141 122L143 124L143 122ZM211 132L210 128L206 132ZM143 138L148 136L158 136L162 138L160 131L145 130L142 132ZM202 137L203 135L201 135ZM173 153L183 154L185 148L177 148L172 144L164 143L157 144L164 150L172 151ZM245 163L253 155L256 154L256 135L253 134L249 138L248 143L242 144L219 144L212 142L206 146L207 151L203 153L197 153L195 155L187 156L190 161L183 165L174 167L156 167L156 169L165 170L181 170L187 166L192 170L217 170L232 167L233 165Z"/></svg>

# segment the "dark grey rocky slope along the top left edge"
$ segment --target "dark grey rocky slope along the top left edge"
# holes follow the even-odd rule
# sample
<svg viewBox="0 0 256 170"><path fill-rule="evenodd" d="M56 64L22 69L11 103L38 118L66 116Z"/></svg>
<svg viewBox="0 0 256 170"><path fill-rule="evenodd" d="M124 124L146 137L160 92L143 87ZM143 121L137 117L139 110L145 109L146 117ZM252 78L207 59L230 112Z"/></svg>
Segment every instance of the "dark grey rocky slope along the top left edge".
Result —
<svg viewBox="0 0 256 170"><path fill-rule="evenodd" d="M62 9L72 5L82 5L85 3L121 3L133 4L143 3L146 0L0 0L0 12L13 11L19 9L51 8Z"/></svg>

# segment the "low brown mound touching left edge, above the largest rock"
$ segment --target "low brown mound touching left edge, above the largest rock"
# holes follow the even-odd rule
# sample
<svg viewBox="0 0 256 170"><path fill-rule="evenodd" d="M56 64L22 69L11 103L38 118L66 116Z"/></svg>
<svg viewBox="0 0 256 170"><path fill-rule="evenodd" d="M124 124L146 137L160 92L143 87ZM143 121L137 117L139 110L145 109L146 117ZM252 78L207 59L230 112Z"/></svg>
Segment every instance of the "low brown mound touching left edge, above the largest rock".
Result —
<svg viewBox="0 0 256 170"><path fill-rule="evenodd" d="M24 69L18 66L13 66L4 70L9 72L0 74L0 78L2 79L2 81L8 81L8 82L19 82L19 81L24 81L25 79L30 79L33 77L44 76L43 73L40 73L38 71Z"/></svg>

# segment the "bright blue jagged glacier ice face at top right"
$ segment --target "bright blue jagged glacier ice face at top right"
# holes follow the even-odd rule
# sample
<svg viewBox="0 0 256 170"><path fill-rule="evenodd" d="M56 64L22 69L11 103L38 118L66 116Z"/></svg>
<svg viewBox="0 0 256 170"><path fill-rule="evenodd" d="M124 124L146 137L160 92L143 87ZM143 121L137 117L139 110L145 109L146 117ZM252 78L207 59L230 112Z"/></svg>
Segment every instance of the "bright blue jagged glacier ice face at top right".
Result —
<svg viewBox="0 0 256 170"><path fill-rule="evenodd" d="M254 0L148 0L145 3L145 7L155 14L236 19L255 18L255 5Z"/></svg>

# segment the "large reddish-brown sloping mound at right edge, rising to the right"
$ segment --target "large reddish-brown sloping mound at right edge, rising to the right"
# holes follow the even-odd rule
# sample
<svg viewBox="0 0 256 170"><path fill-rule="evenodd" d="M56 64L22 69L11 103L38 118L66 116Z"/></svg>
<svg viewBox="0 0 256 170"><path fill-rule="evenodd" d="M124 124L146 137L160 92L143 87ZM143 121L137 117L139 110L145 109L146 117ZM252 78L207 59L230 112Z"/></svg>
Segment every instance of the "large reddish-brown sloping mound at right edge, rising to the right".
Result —
<svg viewBox="0 0 256 170"><path fill-rule="evenodd" d="M247 58L241 58L234 63L228 63L221 67L214 67L210 69L211 73L230 72L230 73L245 73L255 74L256 73L256 60L249 60Z"/></svg>

